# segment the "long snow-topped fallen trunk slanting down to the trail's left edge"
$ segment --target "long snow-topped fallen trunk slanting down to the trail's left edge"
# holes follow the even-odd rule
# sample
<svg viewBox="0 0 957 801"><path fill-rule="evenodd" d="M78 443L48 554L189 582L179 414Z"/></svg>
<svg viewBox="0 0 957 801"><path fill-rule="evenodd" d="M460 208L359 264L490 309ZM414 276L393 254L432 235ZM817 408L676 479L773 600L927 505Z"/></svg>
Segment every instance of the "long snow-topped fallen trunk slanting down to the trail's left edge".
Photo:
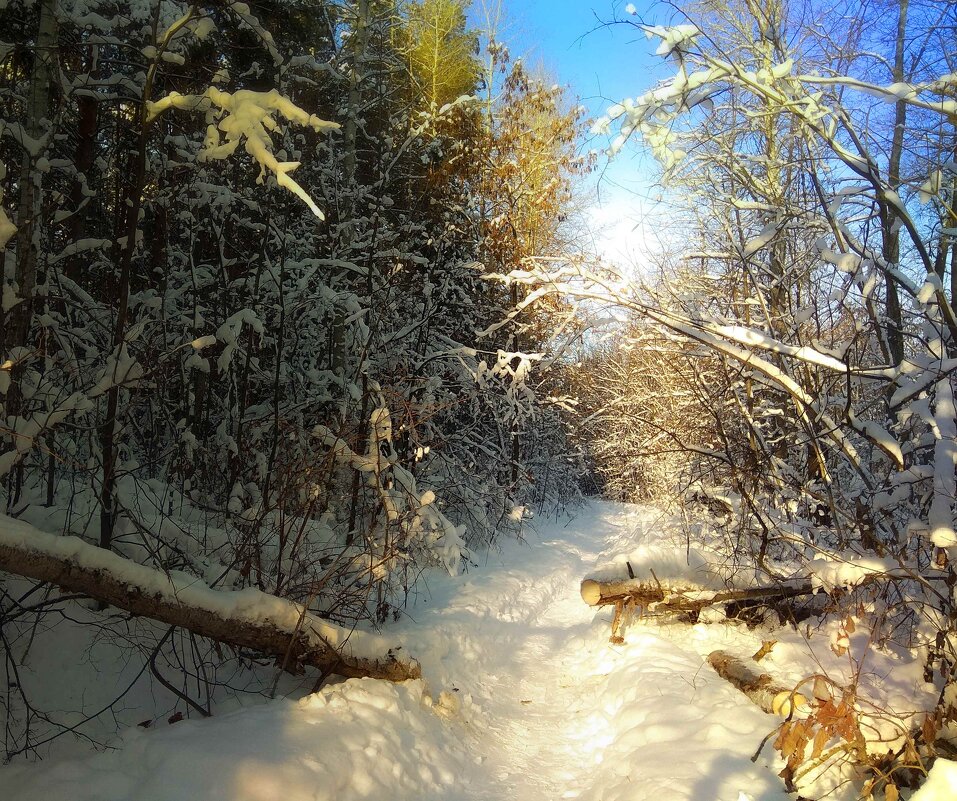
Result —
<svg viewBox="0 0 957 801"><path fill-rule="evenodd" d="M0 571L48 581L134 615L276 656L289 669L309 665L340 676L405 681L414 659L400 659L375 634L350 631L292 601L254 588L216 590L194 576L164 573L84 542L0 515Z"/></svg>

